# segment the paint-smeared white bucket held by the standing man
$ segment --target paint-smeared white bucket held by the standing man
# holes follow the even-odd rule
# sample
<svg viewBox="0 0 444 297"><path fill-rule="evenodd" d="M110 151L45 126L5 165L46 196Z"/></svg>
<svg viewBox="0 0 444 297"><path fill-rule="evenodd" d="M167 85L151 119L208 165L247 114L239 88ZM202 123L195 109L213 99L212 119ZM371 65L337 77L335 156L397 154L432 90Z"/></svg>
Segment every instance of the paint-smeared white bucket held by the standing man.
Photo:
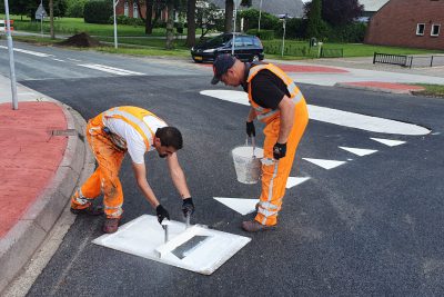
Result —
<svg viewBox="0 0 444 297"><path fill-rule="evenodd" d="M243 146L234 148L233 155L234 169L238 181L242 184L256 184L261 179L261 159L263 158L263 149L252 146Z"/></svg>

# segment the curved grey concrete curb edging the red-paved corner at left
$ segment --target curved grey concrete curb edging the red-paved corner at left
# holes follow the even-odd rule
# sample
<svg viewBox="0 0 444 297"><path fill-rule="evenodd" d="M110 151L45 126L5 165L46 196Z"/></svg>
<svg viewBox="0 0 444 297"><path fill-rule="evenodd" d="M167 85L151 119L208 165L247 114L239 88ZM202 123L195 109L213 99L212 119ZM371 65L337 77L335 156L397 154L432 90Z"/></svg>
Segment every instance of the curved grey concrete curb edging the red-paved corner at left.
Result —
<svg viewBox="0 0 444 297"><path fill-rule="evenodd" d="M68 136L68 145L56 176L36 199L16 226L0 240L0 293L13 280L31 259L39 246L54 226L72 192L83 169L92 171L93 160L88 154L84 138L85 121L72 108L56 101L67 118L68 129L75 132ZM91 166L92 164L92 166ZM89 174L89 172L88 172Z"/></svg>

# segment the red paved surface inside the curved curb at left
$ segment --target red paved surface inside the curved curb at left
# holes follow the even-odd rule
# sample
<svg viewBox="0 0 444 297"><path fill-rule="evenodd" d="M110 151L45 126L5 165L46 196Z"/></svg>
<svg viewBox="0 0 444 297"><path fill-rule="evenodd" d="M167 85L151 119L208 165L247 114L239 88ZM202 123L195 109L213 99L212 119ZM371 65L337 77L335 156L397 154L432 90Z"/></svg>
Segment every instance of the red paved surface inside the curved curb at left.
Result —
<svg viewBox="0 0 444 297"><path fill-rule="evenodd" d="M0 105L0 237L23 216L48 186L63 158L68 138L62 109L52 102Z"/></svg>

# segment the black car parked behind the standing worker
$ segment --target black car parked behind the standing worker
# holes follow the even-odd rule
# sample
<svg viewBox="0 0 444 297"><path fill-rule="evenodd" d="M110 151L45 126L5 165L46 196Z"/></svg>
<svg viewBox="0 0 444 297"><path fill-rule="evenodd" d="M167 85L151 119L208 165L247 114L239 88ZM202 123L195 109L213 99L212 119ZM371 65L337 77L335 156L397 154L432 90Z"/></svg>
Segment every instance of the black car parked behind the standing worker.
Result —
<svg viewBox="0 0 444 297"><path fill-rule="evenodd" d="M191 48L191 57L194 62L213 61L221 53L231 53L232 33L216 36ZM263 47L261 40L255 36L235 34L234 56L243 61L263 60Z"/></svg>

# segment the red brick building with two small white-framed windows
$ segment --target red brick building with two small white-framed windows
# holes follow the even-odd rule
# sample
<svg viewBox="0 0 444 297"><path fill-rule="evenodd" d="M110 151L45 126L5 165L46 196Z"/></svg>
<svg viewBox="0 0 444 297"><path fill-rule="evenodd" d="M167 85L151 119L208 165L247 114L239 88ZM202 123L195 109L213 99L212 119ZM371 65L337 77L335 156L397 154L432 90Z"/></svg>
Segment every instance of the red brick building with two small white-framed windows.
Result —
<svg viewBox="0 0 444 297"><path fill-rule="evenodd" d="M371 19L365 43L444 50L444 0L390 0Z"/></svg>

